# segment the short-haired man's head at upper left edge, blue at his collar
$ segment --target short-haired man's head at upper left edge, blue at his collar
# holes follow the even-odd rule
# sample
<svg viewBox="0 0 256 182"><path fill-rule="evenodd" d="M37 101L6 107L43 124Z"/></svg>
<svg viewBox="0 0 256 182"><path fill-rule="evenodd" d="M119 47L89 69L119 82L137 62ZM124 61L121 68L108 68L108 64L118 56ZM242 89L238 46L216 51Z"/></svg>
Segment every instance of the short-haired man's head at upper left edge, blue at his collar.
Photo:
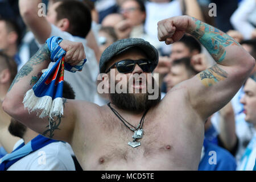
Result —
<svg viewBox="0 0 256 182"><path fill-rule="evenodd" d="M18 67L22 64L18 55L21 36L20 28L15 20L0 18L0 49L6 55L13 57Z"/></svg>

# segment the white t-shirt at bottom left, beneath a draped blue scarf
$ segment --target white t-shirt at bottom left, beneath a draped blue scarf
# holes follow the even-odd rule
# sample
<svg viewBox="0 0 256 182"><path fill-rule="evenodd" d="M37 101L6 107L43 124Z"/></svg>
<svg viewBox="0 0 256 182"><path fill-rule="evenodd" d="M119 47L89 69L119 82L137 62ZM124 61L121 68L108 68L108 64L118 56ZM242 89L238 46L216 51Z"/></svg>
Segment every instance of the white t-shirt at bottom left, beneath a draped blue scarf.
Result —
<svg viewBox="0 0 256 182"><path fill-rule="evenodd" d="M16 147L22 143L20 139L16 142ZM24 156L11 165L7 171L75 171L71 153L67 145L63 142L53 142Z"/></svg>

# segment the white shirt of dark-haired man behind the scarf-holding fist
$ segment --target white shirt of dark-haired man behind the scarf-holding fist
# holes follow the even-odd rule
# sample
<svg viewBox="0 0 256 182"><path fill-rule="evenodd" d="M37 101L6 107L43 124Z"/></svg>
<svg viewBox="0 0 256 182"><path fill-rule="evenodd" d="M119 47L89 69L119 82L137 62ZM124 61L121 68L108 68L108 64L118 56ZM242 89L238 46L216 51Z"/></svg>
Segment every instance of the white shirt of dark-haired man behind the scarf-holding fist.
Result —
<svg viewBox="0 0 256 182"><path fill-rule="evenodd" d="M51 24L51 36L60 36L65 40L70 40L73 42L81 42L84 46L84 51L86 55L86 63L81 72L68 72L64 73L64 80L71 84L73 90L76 94L76 100L84 100L93 102L94 95L96 94L96 80L98 76L98 63L96 60L95 53L92 49L86 46L86 40L78 36L73 36L68 32L61 31L59 28ZM42 45L41 45L42 46ZM53 65L54 63L51 63Z"/></svg>

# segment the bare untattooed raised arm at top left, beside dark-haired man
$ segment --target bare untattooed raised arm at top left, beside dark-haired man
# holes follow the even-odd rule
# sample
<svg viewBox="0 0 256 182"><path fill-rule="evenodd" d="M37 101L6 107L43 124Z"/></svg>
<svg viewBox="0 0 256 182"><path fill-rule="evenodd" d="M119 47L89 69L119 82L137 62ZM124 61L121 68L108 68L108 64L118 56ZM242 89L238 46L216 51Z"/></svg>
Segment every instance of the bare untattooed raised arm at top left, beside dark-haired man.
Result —
<svg viewBox="0 0 256 182"><path fill-rule="evenodd" d="M43 44L51 35L51 24L43 15L46 11L43 12L43 9L46 7L40 5L43 5L42 0L19 0L19 11L22 19L33 32L36 40Z"/></svg>

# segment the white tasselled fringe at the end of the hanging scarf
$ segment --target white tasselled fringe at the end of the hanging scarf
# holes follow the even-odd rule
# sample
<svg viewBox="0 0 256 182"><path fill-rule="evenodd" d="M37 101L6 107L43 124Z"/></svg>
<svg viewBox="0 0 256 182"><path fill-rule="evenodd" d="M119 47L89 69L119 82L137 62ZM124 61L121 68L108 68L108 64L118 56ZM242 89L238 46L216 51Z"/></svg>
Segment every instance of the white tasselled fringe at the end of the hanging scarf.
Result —
<svg viewBox="0 0 256 182"><path fill-rule="evenodd" d="M42 110L39 118L49 116L52 119L55 116L61 117L63 115L62 98L57 97L52 101L50 96L36 97L33 89L28 90L25 94L23 104L25 108L28 108L28 111Z"/></svg>

